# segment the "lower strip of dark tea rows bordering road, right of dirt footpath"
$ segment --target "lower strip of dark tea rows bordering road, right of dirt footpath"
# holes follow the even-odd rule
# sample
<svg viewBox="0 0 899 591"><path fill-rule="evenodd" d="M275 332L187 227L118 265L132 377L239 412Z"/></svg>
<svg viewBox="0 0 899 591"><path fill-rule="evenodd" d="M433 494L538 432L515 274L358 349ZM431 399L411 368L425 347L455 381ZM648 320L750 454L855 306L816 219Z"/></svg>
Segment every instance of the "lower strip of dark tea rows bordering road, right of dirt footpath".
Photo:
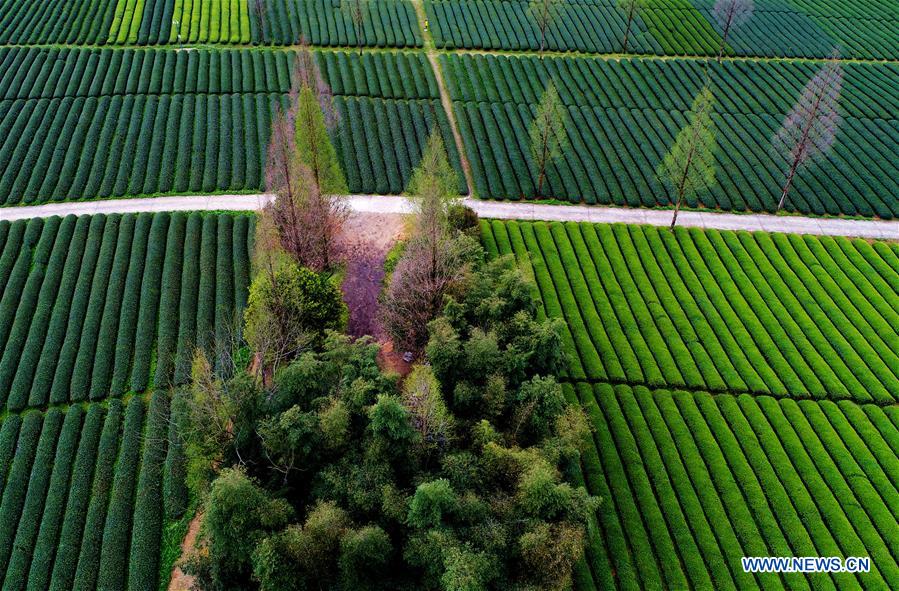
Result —
<svg viewBox="0 0 899 591"><path fill-rule="evenodd" d="M514 103L454 103L475 191L489 199L556 198L589 204L667 207L656 168L677 132L682 111L569 107L570 143L547 167L542 194L530 158L528 125L535 107ZM714 115L717 183L686 200L690 207L775 211L784 174L771 154L780 117ZM785 205L815 215L899 216L899 121L846 118L825 159L796 176Z"/></svg>

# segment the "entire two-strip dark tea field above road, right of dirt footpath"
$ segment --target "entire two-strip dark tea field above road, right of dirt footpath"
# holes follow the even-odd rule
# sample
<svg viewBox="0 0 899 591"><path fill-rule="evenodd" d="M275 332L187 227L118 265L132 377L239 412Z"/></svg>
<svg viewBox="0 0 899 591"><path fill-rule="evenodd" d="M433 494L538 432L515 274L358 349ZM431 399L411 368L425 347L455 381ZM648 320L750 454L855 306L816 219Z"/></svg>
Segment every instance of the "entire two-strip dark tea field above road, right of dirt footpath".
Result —
<svg viewBox="0 0 899 591"><path fill-rule="evenodd" d="M785 170L771 138L818 64L806 62L441 56L478 196L553 197L630 206L672 202L656 168L687 121L706 73L717 100L718 182L691 207L774 211ZM706 71L708 67L708 71ZM846 64L834 149L795 181L787 209L899 216L895 64ZM569 143L537 195L528 126L553 80Z"/></svg>

